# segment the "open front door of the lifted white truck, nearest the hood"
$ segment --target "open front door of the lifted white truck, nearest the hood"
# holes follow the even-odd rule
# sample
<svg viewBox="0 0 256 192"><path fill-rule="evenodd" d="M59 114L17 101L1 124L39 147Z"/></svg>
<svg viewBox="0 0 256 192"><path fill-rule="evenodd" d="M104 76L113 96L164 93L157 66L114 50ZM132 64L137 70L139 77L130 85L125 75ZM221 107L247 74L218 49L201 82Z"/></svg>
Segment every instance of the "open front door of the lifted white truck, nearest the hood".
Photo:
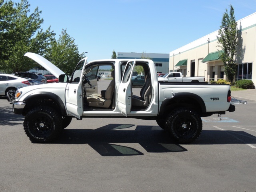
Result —
<svg viewBox="0 0 256 192"><path fill-rule="evenodd" d="M68 114L75 116L76 118L81 118L83 114L83 72L85 68L87 58L81 60L74 70L70 83L66 86L66 108Z"/></svg>

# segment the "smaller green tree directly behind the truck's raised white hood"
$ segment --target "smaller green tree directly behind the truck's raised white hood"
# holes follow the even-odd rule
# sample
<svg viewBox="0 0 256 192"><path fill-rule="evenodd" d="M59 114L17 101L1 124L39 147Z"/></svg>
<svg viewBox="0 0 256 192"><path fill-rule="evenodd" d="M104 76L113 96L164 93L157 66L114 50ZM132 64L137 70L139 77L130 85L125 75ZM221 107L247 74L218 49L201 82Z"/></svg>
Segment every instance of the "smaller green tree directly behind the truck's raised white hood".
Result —
<svg viewBox="0 0 256 192"><path fill-rule="evenodd" d="M46 58L70 75L83 56L84 53L79 54L78 45L75 44L74 39L70 37L66 29L62 29L59 39L52 41Z"/></svg>

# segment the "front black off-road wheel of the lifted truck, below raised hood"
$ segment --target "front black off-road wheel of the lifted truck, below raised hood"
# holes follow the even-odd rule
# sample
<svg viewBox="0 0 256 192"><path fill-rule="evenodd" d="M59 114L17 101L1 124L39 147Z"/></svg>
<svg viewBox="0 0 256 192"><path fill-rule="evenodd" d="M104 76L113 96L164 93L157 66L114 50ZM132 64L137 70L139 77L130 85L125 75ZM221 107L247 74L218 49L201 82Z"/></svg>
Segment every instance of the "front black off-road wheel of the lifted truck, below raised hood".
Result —
<svg viewBox="0 0 256 192"><path fill-rule="evenodd" d="M51 107L37 106L27 113L23 126L30 141L47 143L60 134L62 116Z"/></svg>

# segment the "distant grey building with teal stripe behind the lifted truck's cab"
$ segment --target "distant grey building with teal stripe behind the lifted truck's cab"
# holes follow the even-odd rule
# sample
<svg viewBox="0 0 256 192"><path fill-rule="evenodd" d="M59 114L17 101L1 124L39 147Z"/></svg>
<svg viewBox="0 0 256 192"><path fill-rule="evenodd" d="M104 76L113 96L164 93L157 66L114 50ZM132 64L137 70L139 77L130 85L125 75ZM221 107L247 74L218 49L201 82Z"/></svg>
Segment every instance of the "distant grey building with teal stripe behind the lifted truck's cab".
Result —
<svg viewBox="0 0 256 192"><path fill-rule="evenodd" d="M158 73L168 73L169 71L169 54L161 53L117 53L118 59L141 59L150 58L156 65Z"/></svg>

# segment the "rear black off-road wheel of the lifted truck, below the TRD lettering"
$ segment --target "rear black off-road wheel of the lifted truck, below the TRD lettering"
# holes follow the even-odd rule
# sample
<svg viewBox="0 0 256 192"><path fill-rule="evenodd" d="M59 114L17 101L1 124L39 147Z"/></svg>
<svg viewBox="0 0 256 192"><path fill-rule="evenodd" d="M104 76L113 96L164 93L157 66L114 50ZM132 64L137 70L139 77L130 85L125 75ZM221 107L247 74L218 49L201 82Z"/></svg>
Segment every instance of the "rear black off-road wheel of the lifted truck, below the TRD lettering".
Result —
<svg viewBox="0 0 256 192"><path fill-rule="evenodd" d="M166 130L178 143L190 143L202 132L202 120L198 113L189 108L179 108L168 115Z"/></svg>

